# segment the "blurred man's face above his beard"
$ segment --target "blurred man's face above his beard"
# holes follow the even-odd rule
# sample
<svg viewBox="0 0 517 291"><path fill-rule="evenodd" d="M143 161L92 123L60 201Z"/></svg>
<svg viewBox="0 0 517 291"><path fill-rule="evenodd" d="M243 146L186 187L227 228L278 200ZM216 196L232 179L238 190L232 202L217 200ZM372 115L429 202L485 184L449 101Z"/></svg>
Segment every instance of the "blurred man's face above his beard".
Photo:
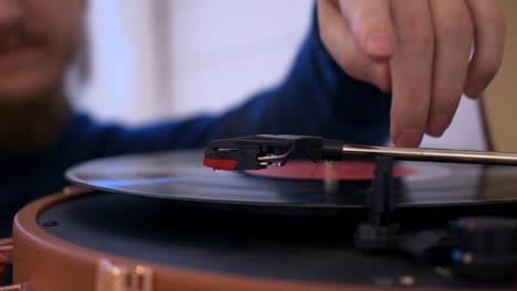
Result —
<svg viewBox="0 0 517 291"><path fill-rule="evenodd" d="M84 2L0 0L1 99L23 103L62 83L81 37Z"/></svg>

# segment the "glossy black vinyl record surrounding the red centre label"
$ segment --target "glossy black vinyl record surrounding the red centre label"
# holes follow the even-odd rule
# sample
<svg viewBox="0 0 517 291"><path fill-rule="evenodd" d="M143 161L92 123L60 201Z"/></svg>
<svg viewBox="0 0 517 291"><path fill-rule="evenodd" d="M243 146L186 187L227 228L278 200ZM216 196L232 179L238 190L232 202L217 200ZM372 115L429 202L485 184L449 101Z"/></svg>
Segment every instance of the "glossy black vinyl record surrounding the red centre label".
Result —
<svg viewBox="0 0 517 291"><path fill-rule="evenodd" d="M370 180L258 177L213 171L202 151L175 151L93 160L66 177L95 190L145 197L202 202L214 207L334 212L363 207ZM486 205L517 201L517 168L399 162L416 173L395 179L399 207Z"/></svg>

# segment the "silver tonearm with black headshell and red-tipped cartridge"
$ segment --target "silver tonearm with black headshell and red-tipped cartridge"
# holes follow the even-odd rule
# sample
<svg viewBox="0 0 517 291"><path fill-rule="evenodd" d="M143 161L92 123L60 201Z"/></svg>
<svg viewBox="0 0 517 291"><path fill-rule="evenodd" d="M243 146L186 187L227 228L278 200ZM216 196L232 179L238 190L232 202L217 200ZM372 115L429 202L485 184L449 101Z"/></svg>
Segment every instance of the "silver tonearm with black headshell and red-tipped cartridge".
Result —
<svg viewBox="0 0 517 291"><path fill-rule="evenodd" d="M386 155L405 161L517 165L517 153L508 152L360 146L320 137L266 134L214 140L204 152L203 164L214 170L257 170L283 165L294 152L313 161Z"/></svg>

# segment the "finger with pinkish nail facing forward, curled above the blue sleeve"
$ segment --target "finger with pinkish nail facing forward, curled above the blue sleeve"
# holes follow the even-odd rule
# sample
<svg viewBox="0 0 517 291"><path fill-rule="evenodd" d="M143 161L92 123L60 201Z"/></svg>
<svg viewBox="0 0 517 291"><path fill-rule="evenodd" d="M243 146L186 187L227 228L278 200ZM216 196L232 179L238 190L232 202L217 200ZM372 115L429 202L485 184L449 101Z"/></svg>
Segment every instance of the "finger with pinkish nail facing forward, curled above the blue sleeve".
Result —
<svg viewBox="0 0 517 291"><path fill-rule="evenodd" d="M376 61L388 61L395 48L389 0L340 0L356 43Z"/></svg>

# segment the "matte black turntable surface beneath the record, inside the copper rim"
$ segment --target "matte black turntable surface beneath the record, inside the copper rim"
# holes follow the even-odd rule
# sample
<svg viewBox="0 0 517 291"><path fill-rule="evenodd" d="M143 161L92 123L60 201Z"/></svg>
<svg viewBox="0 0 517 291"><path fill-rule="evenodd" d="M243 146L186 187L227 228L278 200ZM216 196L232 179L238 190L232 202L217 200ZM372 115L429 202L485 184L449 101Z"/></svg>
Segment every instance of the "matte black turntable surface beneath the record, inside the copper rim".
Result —
<svg viewBox="0 0 517 291"><path fill-rule="evenodd" d="M399 219L432 226L451 214L513 213L516 203L399 209ZM39 226L89 249L180 268L246 277L339 284L473 287L451 270L400 254L372 255L351 247L363 209L298 215L205 208L197 202L154 200L102 191L44 209ZM404 219L404 217L410 219ZM405 227L405 225L404 225ZM508 285L489 285L497 290Z"/></svg>

